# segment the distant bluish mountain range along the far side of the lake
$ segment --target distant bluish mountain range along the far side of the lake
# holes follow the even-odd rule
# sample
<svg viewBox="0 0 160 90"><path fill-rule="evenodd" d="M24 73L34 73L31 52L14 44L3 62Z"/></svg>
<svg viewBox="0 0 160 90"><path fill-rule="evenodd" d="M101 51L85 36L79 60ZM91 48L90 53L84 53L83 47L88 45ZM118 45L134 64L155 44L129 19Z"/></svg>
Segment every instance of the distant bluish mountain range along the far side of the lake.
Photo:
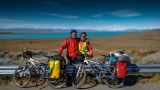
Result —
<svg viewBox="0 0 160 90"><path fill-rule="evenodd" d="M9 32L9 33L65 33L70 32L71 29L31 29L31 28L0 28L0 32ZM91 30L91 29L77 29L79 32L141 32L141 31L150 31L152 29L128 29L121 31L111 31L111 30Z"/></svg>

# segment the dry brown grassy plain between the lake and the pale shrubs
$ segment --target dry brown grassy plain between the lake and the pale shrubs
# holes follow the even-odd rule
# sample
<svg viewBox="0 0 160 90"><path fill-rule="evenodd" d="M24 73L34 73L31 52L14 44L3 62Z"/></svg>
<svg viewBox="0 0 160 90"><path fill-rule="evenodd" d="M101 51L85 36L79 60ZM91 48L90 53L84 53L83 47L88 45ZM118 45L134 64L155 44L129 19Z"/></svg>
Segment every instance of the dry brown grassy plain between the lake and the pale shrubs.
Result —
<svg viewBox="0 0 160 90"><path fill-rule="evenodd" d="M160 30L134 32L103 38L89 38L94 52L107 53L112 50L160 50ZM67 37L66 37L67 38ZM0 40L0 51L19 51L23 48L53 51L58 50L65 38L10 39Z"/></svg>

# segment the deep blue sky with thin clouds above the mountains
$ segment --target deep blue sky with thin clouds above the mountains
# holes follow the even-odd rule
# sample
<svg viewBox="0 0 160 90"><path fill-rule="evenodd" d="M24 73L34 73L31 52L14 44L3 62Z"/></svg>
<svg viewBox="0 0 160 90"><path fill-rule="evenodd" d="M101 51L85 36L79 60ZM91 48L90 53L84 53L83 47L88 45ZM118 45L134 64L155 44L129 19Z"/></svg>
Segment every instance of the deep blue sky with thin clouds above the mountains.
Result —
<svg viewBox="0 0 160 90"><path fill-rule="evenodd" d="M160 0L0 0L0 28L160 28Z"/></svg>

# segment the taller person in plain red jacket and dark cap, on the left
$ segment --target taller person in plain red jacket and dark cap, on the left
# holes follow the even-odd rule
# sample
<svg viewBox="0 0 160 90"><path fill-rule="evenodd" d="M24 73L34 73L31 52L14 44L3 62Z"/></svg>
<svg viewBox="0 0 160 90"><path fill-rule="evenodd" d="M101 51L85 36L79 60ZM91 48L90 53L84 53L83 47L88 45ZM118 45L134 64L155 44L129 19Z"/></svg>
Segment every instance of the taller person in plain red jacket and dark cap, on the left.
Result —
<svg viewBox="0 0 160 90"><path fill-rule="evenodd" d="M66 48L67 49L67 58L69 62L75 63L77 60L77 52L79 50L79 42L80 38L77 37L77 31L76 30L71 30L71 36L68 37L63 44L59 48L59 55L62 54L63 50Z"/></svg>

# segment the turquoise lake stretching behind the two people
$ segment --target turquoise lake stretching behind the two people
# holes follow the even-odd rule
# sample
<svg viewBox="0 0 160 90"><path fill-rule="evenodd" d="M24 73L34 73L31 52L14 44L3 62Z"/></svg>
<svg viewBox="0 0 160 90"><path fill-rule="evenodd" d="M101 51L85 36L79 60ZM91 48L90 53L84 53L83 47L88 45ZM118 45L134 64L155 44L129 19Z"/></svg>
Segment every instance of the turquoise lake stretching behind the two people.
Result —
<svg viewBox="0 0 160 90"><path fill-rule="evenodd" d="M102 38L126 34L126 32L88 32L88 38ZM27 33L27 34L0 34L0 39L47 39L47 38L67 38L70 33ZM79 36L79 33L78 35Z"/></svg>

